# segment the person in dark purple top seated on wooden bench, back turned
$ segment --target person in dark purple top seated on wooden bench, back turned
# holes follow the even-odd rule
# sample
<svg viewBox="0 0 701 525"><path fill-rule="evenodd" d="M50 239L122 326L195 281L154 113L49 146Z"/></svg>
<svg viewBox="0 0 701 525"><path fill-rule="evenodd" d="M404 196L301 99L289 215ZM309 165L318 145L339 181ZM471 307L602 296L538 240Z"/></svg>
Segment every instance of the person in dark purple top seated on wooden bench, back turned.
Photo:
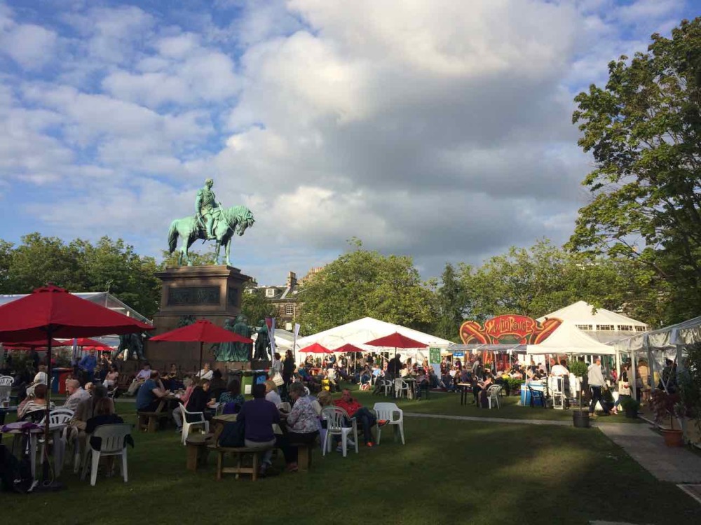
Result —
<svg viewBox="0 0 701 525"><path fill-rule="evenodd" d="M273 425L280 424L280 412L273 402L266 400L264 384L253 385L253 400L243 403L236 421L244 423L244 444L250 449L284 447L283 438L275 437ZM286 448L286 447L285 447ZM283 448L283 452L285 451ZM258 475L265 476L272 465L273 449L266 450L261 458Z"/></svg>

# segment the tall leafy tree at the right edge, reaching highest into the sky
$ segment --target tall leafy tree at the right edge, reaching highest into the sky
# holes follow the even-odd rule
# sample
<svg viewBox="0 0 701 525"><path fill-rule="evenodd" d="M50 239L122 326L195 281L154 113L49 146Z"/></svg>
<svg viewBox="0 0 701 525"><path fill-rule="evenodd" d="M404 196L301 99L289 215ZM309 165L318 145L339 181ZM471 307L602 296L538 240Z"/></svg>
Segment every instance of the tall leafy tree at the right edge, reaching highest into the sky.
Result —
<svg viewBox="0 0 701 525"><path fill-rule="evenodd" d="M608 66L604 88L577 95L596 169L583 184L571 246L650 272L662 322L701 313L701 18L653 34L647 53Z"/></svg>

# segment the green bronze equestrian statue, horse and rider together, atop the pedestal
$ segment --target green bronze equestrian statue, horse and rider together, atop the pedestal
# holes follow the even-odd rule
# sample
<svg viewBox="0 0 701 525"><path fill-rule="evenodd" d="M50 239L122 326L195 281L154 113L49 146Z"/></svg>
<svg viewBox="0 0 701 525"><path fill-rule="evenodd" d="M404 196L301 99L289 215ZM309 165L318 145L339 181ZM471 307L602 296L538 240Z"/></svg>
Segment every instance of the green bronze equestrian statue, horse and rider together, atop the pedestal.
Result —
<svg viewBox="0 0 701 525"><path fill-rule="evenodd" d="M183 239L178 257L179 265L184 262L186 265L192 266L187 251L194 241L202 239L203 241L216 242L217 265L222 264L219 262L219 249L224 246L224 262L231 266L231 260L229 260L231 238L234 233L243 235L246 229L255 222L250 209L245 206L224 208L222 203L217 201L212 186L214 186L214 181L207 179L205 186L198 190L194 216L175 219L170 223L170 230L168 230L169 253L176 250L177 238L182 237Z"/></svg>

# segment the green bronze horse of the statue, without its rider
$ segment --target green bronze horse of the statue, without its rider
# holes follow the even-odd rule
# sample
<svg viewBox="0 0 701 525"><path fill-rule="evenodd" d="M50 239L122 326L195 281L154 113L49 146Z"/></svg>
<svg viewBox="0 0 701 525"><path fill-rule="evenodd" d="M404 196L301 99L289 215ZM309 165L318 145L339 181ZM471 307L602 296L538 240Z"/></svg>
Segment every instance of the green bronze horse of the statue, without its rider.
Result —
<svg viewBox="0 0 701 525"><path fill-rule="evenodd" d="M229 253L231 253L231 238L233 234L243 235L247 228L250 228L255 219L250 209L245 206L233 206L231 208L220 208L221 214L215 228L213 229L214 235L217 238L217 248L215 251L216 263L219 262L219 248L224 246L224 257L226 265L231 266L231 261L229 260ZM182 237L183 241L180 245L180 255L178 258L178 264L182 265L183 260L188 266L192 266L192 262L189 258L187 251L194 241L197 239L207 240L207 231L203 223L198 221L198 218L194 216L184 217L180 219L175 219L170 223L170 230L168 230L168 253L173 253L177 248L177 238Z"/></svg>

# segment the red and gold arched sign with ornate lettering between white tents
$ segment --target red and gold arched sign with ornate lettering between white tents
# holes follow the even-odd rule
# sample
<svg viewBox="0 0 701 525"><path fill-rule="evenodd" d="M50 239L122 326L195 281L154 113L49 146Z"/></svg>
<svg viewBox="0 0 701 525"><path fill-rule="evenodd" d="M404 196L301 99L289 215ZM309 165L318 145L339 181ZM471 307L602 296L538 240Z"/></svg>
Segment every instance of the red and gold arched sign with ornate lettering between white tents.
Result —
<svg viewBox="0 0 701 525"><path fill-rule="evenodd" d="M562 320L556 318L540 323L526 316L496 316L485 321L484 326L465 321L460 327L460 338L464 344L538 344L560 324Z"/></svg>

